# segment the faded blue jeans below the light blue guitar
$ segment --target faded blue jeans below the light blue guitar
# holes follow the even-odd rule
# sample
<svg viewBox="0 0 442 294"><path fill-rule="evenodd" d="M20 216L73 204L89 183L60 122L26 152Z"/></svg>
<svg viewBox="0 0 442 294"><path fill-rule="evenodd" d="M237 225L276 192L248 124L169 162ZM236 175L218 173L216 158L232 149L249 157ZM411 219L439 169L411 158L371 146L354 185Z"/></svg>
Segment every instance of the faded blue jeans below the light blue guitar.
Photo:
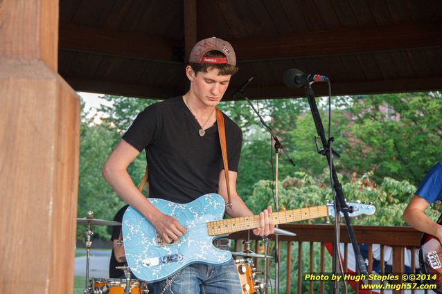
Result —
<svg viewBox="0 0 442 294"><path fill-rule="evenodd" d="M150 284L154 294L240 294L240 278L233 259L225 264L191 264L176 276Z"/></svg>

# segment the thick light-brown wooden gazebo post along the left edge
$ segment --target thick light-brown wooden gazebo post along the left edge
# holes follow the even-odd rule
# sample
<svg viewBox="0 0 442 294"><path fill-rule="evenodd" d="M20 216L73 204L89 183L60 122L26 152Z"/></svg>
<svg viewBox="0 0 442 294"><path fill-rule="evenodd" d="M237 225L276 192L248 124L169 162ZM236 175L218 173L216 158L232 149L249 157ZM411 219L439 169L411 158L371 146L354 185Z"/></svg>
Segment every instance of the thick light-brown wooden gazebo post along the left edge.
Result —
<svg viewBox="0 0 442 294"><path fill-rule="evenodd" d="M0 293L72 293L80 103L58 0L0 1Z"/></svg>

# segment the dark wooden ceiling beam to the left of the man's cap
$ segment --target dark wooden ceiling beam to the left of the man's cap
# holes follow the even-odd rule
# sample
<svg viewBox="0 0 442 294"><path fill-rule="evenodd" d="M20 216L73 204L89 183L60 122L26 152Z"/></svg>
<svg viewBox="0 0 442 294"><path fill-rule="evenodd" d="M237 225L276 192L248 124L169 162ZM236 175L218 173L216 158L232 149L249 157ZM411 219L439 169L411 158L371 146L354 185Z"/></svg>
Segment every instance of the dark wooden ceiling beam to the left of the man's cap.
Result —
<svg viewBox="0 0 442 294"><path fill-rule="evenodd" d="M60 24L59 48L87 53L173 62L182 42L143 33Z"/></svg>

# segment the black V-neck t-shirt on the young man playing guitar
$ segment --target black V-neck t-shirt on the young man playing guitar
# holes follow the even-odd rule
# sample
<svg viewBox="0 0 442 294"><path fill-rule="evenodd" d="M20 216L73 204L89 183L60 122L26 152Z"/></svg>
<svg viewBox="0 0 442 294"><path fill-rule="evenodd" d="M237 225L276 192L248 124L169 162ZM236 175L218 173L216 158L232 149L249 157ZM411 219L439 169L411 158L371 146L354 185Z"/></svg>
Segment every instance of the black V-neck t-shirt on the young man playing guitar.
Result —
<svg viewBox="0 0 442 294"><path fill-rule="evenodd" d="M242 132L224 113L229 170L237 172ZM152 104L139 113L123 139L146 149L150 196L188 203L218 190L222 154L216 122L200 136L199 123L182 96Z"/></svg>

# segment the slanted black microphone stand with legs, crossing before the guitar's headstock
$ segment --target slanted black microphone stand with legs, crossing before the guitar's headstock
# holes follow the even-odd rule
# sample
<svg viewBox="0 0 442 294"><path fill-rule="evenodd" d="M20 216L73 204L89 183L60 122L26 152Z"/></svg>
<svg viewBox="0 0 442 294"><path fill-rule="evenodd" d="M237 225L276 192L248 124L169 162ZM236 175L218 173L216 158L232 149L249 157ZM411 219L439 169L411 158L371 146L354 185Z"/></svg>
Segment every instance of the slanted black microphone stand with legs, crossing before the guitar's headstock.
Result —
<svg viewBox="0 0 442 294"><path fill-rule="evenodd" d="M339 180L337 178L335 166L333 164L333 156L332 154L335 154L339 156L333 149L330 147L331 143L333 142L334 138L329 138L328 141L326 140L326 136L324 134L324 127L322 125L321 116L319 114L316 100L315 100L315 94L313 93L312 83L306 83L305 91L308 99L308 104L310 105L310 110L312 112L313 120L315 121L315 127L317 130L317 134L319 138L321 138L322 143L322 149L320 149L318 152L321 155L326 156L328 166L330 167L331 171L330 174L333 178L333 188L335 190L335 193L333 193L334 196L334 203L335 203L335 242L333 246L333 273L339 273L342 274L342 272L338 272L339 270L339 263L340 263L340 256L338 251L339 246L339 226L341 221L341 212L344 214L344 219L346 222L346 227L348 230L348 235L351 239L351 244L353 245L353 251L355 252L355 261L356 261L356 270L357 273L364 274L368 276L366 265L364 262L364 259L362 259L362 255L360 252L359 245L357 244L356 237L355 237L355 231L353 230L353 226L351 225L350 217L348 216L348 206L345 202L344 198L344 192L342 192L342 185L339 183ZM340 289L340 282L333 281L333 293L339 293Z"/></svg>

